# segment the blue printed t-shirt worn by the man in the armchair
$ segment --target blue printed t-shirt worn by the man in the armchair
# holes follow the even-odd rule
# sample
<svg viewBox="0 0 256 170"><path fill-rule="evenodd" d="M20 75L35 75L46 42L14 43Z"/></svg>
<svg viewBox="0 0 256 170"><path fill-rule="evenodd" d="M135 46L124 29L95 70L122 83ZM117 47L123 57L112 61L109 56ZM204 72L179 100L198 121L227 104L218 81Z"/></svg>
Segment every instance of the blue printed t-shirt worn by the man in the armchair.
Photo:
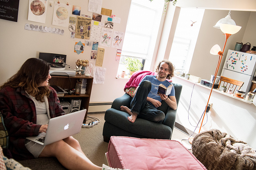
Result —
<svg viewBox="0 0 256 170"><path fill-rule="evenodd" d="M167 80L165 81L159 81L156 79L156 76L153 76L153 75L146 75L142 80L148 80L151 82L151 90L148 94L148 97L152 98L152 99L156 99L158 101L162 101L161 100L161 97L159 95L157 95L157 92L158 92L158 86L159 84L163 84L164 86L168 87L171 85L170 82L168 82ZM141 83L139 84L141 85ZM169 94L168 96L175 96L175 90L174 90L174 86L172 86L172 90L171 90L171 94ZM148 102L150 105L152 105L154 107L154 105L150 102Z"/></svg>

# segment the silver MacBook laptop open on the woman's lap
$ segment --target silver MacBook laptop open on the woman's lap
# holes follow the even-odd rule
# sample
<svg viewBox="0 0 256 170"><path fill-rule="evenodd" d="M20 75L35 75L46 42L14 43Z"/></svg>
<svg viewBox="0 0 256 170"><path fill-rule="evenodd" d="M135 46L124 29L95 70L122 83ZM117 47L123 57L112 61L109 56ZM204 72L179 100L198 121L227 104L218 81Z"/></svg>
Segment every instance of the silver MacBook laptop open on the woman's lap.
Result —
<svg viewBox="0 0 256 170"><path fill-rule="evenodd" d="M86 109L51 118L46 133L42 132L38 136L30 136L26 137L26 139L41 145L49 145L75 135L79 133L82 128L85 113Z"/></svg>

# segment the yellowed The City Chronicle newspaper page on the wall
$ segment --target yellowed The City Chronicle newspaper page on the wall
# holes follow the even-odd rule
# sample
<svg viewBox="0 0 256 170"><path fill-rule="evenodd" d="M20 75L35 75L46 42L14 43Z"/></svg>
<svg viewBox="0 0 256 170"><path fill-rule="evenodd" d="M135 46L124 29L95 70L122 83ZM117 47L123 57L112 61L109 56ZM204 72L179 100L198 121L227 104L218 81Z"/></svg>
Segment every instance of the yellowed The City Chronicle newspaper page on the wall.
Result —
<svg viewBox="0 0 256 170"><path fill-rule="evenodd" d="M90 39L90 29L92 19L87 17L77 17L77 25L75 31L75 38L79 39Z"/></svg>

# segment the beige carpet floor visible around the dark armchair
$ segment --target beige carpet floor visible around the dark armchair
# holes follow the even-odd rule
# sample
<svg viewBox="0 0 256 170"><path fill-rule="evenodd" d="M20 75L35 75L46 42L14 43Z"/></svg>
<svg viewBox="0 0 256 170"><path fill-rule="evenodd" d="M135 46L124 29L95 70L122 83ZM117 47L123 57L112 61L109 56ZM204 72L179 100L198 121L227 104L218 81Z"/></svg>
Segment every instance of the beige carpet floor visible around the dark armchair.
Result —
<svg viewBox="0 0 256 170"><path fill-rule="evenodd" d="M98 125L92 128L82 128L80 133L73 137L77 139L86 156L96 165L102 166L104 163L105 153L108 151L108 143L103 141L102 130L104 125L104 112L90 112L88 116L94 116L100 119ZM90 118L87 118L87 120ZM86 123L88 123L87 121ZM187 142L188 135L174 128L172 140L181 142L188 149L191 145ZM186 139L182 140L182 139Z"/></svg>

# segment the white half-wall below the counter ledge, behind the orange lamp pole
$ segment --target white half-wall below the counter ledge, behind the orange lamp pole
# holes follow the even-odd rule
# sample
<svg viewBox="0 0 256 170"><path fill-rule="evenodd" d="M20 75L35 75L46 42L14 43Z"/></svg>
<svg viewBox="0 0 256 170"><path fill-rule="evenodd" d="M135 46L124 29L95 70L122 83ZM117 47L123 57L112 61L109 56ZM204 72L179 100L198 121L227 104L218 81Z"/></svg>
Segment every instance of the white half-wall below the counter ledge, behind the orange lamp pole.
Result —
<svg viewBox="0 0 256 170"><path fill-rule="evenodd" d="M173 78L173 82L182 84L176 122L194 131L204 113L210 88L194 85L192 82L177 77ZM212 103L212 108L205 115L203 125L207 123L202 127L201 132L214 128L219 129L256 148L256 111L254 104L245 103L214 91L209 103ZM198 127L200 125L201 121ZM195 133L198 132L199 128L196 128Z"/></svg>

